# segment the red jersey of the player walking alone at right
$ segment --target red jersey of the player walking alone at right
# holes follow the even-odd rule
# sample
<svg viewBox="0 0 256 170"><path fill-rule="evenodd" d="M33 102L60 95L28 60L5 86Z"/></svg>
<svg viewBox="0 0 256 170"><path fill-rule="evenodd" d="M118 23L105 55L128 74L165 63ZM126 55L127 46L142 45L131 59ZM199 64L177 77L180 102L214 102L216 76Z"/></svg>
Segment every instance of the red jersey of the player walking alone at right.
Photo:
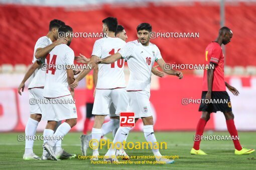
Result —
<svg viewBox="0 0 256 170"><path fill-rule="evenodd" d="M215 64L212 91L226 91L224 80L224 55L218 42L211 42L205 49L205 65ZM204 69L203 91L208 91L207 69Z"/></svg>

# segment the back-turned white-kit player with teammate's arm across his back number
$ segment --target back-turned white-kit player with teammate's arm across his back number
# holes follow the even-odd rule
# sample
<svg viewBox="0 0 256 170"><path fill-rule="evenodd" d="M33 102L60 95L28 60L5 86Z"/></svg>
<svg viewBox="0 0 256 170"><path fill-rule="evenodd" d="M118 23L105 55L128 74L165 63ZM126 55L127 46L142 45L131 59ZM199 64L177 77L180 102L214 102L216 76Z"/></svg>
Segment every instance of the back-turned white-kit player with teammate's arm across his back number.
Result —
<svg viewBox="0 0 256 170"><path fill-rule="evenodd" d="M114 54L125 45L125 42L122 39L115 37L115 31L118 25L117 19L114 17L107 17L103 19L102 22L103 33L107 34L107 36L96 40L94 43L91 59L88 63L93 63L93 67L96 65L94 63L96 58L105 58ZM98 65L98 76L94 77L96 78L94 79L94 82L96 82L96 93L92 114L95 114L95 119L91 132L92 139L97 141L100 140L102 135L101 127L104 122L104 117L109 113L109 105L111 102L113 102L116 110L115 114L110 116L116 116L127 109L128 96L125 90L123 67L123 59L119 59L112 64ZM88 73L88 70L83 70L77 76L74 85L76 85L76 83L81 80L86 73ZM74 86L71 85L71 87ZM94 142L93 145L94 149L91 160L98 160L98 145L96 142Z"/></svg>

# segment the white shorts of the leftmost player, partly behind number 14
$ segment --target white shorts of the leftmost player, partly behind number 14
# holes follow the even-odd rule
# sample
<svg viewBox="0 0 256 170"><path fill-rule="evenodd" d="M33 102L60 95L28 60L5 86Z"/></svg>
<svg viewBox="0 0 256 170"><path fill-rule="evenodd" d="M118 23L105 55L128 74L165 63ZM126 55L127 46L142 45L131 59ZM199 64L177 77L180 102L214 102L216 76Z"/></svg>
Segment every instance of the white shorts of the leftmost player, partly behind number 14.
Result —
<svg viewBox="0 0 256 170"><path fill-rule="evenodd" d="M44 104L37 103L38 99L44 99L44 88L30 88L29 89L29 112L30 114L43 114Z"/></svg>

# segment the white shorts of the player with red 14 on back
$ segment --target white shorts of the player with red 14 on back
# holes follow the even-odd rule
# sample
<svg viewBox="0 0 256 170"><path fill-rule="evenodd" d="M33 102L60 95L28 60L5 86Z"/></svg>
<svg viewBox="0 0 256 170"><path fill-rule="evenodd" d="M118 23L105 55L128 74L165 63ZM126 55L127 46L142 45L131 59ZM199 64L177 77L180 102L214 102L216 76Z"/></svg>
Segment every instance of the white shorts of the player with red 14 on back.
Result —
<svg viewBox="0 0 256 170"><path fill-rule="evenodd" d="M42 119L60 121L70 118L77 118L76 105L71 103L71 101L73 101L72 95L51 99L55 101L59 99L58 101L66 102L51 102L49 104L45 104L45 114L42 116Z"/></svg>

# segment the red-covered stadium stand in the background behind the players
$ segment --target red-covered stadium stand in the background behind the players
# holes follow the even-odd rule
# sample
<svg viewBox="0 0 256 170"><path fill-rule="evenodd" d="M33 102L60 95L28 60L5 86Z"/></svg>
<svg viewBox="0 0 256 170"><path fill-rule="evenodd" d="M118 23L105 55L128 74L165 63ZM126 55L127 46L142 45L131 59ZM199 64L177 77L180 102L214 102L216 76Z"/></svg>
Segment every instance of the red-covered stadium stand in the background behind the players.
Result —
<svg viewBox="0 0 256 170"><path fill-rule="evenodd" d="M254 33L255 3L228 3L226 6L226 25L232 28L232 43L226 46L226 65L256 65L254 56L256 40ZM154 8L154 10L151 10ZM148 12L151 10L151 12ZM124 12L125 11L125 12ZM97 12L97 15L95 15ZM137 17L134 17L137 13ZM54 14L54 15L53 15ZM26 64L32 60L34 45L38 37L48 32L48 23L59 18L73 27L75 32L101 32L101 20L105 15L118 18L129 36L129 41L136 39L136 27L140 22L150 22L156 32L199 32L199 38L156 38L156 43L165 60L170 63L204 62L204 49L215 39L219 28L219 6L214 3L189 3L189 5L172 6L169 3L145 3L142 7L125 7L125 5L98 6L95 10L86 7L42 7L2 4L0 5L0 65ZM30 18L27 16L30 15ZM191 17L193 16L193 17ZM232 16L232 17L231 17ZM158 18L158 19L155 19ZM253 22L254 20L254 22ZM127 23L129 22L129 24ZM242 38L241 38L242 37ZM9 41L6 41L9 39ZM96 38L76 38L71 47L75 54L90 56ZM8 42L8 43L7 43ZM11 43L10 43L11 42ZM15 57L14 55L19 56ZM5 66L2 65L4 68ZM5 68L6 69L6 68ZM245 68L244 68L245 69ZM246 69L254 74L254 68ZM238 72L237 72L238 71ZM235 70L233 72L239 72Z"/></svg>

